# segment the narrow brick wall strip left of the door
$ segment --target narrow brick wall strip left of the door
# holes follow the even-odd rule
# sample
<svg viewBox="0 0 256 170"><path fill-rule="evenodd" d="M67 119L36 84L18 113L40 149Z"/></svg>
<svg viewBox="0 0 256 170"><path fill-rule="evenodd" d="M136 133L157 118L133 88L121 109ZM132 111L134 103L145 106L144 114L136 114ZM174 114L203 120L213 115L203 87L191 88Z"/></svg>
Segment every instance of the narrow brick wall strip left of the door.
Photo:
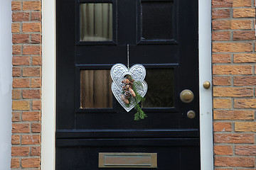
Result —
<svg viewBox="0 0 256 170"><path fill-rule="evenodd" d="M12 1L12 169L41 164L41 1Z"/></svg>

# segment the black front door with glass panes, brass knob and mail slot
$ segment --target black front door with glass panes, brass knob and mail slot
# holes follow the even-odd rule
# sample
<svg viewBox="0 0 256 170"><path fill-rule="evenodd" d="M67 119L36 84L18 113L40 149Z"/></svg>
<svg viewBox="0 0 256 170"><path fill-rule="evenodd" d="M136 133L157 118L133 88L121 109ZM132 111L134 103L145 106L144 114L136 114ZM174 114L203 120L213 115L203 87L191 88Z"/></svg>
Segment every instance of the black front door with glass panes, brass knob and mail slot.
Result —
<svg viewBox="0 0 256 170"><path fill-rule="evenodd" d="M56 169L200 169L198 1L56 6ZM149 86L139 121L110 88L112 65L127 65L127 45L129 66L143 64Z"/></svg>

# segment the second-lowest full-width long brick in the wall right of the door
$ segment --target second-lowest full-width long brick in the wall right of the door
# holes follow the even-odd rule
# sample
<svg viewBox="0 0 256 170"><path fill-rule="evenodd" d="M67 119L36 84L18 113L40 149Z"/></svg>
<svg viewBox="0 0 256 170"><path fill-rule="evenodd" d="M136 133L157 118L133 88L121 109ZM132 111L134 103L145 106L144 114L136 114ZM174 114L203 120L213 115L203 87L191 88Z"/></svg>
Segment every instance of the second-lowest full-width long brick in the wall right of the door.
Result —
<svg viewBox="0 0 256 170"><path fill-rule="evenodd" d="M253 134L214 134L215 143L254 143Z"/></svg>

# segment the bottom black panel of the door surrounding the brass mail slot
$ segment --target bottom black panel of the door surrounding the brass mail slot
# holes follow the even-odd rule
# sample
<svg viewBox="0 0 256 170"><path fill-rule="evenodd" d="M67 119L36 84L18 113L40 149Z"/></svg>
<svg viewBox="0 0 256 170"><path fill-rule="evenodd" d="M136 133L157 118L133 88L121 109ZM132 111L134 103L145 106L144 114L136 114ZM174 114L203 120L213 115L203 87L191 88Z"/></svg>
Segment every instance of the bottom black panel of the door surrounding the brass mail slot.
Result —
<svg viewBox="0 0 256 170"><path fill-rule="evenodd" d="M100 152L142 152L142 153L157 153L157 169L181 169L181 170L193 170L200 169L199 162L193 162L194 159L200 159L198 157L199 151L196 146L161 146L157 149L152 146L85 146L85 147L72 147L66 149L60 147L57 151L56 164L60 169L86 169L90 166L90 170L98 169L98 153ZM73 157L70 157L73 156ZM161 159L159 159L161 157ZM89 158L89 159L88 159ZM193 158L193 159L191 159ZM69 162L68 166L65 166L63 162ZM102 169L102 168L101 168ZM104 168L103 168L104 169ZM122 168L107 168L109 170L122 169ZM126 170L132 170L134 168L124 168ZM140 168L136 168L140 169Z"/></svg>

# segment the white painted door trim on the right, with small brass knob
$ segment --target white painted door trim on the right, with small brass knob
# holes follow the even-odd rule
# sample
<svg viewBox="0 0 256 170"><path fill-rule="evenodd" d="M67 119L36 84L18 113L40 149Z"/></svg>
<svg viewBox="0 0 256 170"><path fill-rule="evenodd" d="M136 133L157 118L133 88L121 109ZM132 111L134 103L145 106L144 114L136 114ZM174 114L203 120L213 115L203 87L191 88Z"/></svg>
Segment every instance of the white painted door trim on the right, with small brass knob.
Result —
<svg viewBox="0 0 256 170"><path fill-rule="evenodd" d="M212 88L203 88L204 81L209 81L212 84L211 0L199 0L198 16L201 169L213 170Z"/></svg>

